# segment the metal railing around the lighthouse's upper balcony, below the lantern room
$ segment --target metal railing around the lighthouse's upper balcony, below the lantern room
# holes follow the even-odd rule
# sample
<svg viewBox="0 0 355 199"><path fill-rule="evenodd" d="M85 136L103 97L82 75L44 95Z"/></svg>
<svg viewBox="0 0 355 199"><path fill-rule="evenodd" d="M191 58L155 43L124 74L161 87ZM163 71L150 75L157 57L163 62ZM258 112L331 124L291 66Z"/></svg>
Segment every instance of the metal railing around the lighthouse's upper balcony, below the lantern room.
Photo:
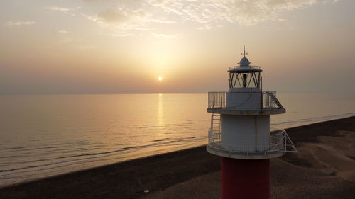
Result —
<svg viewBox="0 0 355 199"><path fill-rule="evenodd" d="M209 92L208 93L208 108L239 108L245 103L248 103L248 98L242 103L227 103L227 92ZM229 98L238 97L244 93L228 93ZM261 109L284 109L281 103L276 98L275 91L254 92L251 95L261 95Z"/></svg>

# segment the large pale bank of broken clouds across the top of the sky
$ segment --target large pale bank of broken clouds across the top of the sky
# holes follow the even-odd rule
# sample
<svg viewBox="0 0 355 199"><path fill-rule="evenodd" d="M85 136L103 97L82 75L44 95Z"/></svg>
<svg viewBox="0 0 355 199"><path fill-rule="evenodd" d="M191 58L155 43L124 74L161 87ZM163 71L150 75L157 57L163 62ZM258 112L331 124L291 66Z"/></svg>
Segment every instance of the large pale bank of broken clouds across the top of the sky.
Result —
<svg viewBox="0 0 355 199"><path fill-rule="evenodd" d="M87 0L89 4L95 4L93 1ZM288 21L281 17L282 13L329 1L340 0L101 0L100 7L106 5L107 9L85 17L119 30L115 33L118 35L131 35L124 30L156 32L157 28L167 27L163 25L187 22L196 29L210 30L221 28L224 23L257 25L265 21Z"/></svg>

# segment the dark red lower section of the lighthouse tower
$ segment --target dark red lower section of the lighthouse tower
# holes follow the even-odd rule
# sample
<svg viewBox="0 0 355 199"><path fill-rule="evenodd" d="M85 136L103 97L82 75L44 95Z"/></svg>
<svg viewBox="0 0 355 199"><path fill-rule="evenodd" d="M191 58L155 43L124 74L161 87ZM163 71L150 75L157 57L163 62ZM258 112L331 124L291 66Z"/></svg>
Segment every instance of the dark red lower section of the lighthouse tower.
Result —
<svg viewBox="0 0 355 199"><path fill-rule="evenodd" d="M270 159L221 158L222 199L269 199Z"/></svg>

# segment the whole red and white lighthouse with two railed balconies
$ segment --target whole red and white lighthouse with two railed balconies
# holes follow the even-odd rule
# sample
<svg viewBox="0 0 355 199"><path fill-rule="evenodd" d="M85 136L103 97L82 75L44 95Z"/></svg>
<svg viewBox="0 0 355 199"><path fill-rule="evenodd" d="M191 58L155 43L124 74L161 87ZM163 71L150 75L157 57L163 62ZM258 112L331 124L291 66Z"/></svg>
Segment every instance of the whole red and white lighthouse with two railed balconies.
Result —
<svg viewBox="0 0 355 199"><path fill-rule="evenodd" d="M297 152L285 130L271 130L270 115L285 113L275 91L262 91L261 67L245 52L229 67L229 89L208 93L207 152L221 157L222 199L270 198L270 159Z"/></svg>

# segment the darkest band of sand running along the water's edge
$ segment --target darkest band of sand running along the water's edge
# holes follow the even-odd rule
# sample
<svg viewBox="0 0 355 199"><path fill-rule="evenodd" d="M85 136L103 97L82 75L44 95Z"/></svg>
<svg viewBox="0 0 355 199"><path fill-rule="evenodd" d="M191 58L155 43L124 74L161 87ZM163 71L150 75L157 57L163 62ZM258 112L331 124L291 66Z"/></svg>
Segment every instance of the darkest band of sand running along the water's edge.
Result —
<svg viewBox="0 0 355 199"><path fill-rule="evenodd" d="M355 116L351 116L285 130L298 148L301 142L318 142L316 137L320 135L342 137L339 130L355 131L354 126ZM288 153L280 159L295 166L310 166L309 161L296 154ZM219 157L207 153L203 145L2 186L0 195L5 198L139 198L145 194L144 190L162 191L219 169Z"/></svg>

